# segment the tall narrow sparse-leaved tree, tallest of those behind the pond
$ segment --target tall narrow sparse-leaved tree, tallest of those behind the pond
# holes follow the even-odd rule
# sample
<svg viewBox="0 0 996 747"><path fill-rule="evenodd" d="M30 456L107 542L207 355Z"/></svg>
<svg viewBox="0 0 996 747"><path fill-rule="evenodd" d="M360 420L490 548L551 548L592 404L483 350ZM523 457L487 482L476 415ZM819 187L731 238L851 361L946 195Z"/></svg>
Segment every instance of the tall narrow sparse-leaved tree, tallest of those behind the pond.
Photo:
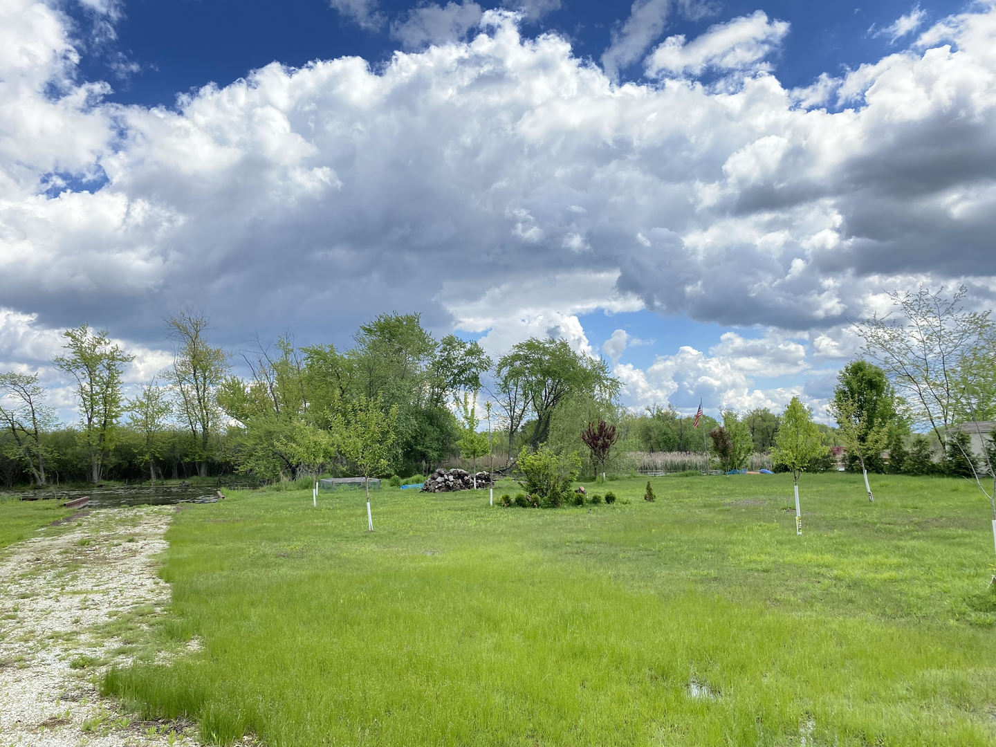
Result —
<svg viewBox="0 0 996 747"><path fill-rule="evenodd" d="M207 319L200 312L183 310L166 320L167 338L174 345L173 366L164 373L175 395L174 411L193 440L197 472L207 476L212 457L212 437L221 419L217 388L228 371L227 358L204 337Z"/></svg>

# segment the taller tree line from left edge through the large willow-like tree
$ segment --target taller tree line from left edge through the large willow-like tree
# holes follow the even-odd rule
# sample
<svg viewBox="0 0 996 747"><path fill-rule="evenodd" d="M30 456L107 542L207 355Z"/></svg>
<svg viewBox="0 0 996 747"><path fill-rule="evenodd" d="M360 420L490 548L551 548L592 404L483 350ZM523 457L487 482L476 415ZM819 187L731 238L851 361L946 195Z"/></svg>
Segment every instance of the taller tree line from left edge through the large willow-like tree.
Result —
<svg viewBox="0 0 996 747"><path fill-rule="evenodd" d="M3 483L356 473L346 444L372 408L390 423L378 470L411 474L458 454L478 459L492 443L506 456L523 443L580 447L585 423L621 411L605 363L563 341L527 340L493 362L477 343L434 339L417 314L380 315L345 350L298 347L290 334L256 340L237 354L247 375L211 345L203 315L180 312L165 328L173 362L131 398L123 375L132 357L107 331L64 333L53 363L75 382L72 425L57 422L37 374L0 374ZM491 438L477 432L482 392Z"/></svg>

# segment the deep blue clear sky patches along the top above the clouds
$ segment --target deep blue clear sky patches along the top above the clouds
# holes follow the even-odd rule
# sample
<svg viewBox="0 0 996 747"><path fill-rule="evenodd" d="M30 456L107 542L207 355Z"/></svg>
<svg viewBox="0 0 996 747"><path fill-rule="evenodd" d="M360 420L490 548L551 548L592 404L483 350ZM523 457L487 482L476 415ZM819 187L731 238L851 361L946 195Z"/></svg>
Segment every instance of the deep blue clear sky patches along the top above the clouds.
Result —
<svg viewBox="0 0 996 747"><path fill-rule="evenodd" d="M112 82L116 91L109 101L172 106L177 93L198 89L208 81L225 86L274 61L301 67L312 60L359 56L373 65L383 64L398 48L390 24L419 4L375 5L384 15L383 23L363 28L322 0L125 3L120 20L114 24L115 42L88 55L81 71L92 80ZM479 5L501 7L495 3ZM562 0L548 5L559 7L527 18L523 31L564 35L571 40L576 55L593 61L599 61L611 46L613 30L624 23L629 10L624 3ZM683 34L690 39L717 22L763 10L769 17L791 24L791 33L773 56L779 79L786 86L807 86L821 73L857 68L894 51L890 37L869 33L872 27L888 27L917 7L926 19L937 20L964 6L959 2L913 6L896 0L864 5L782 0L702 3L696 4L694 12L687 12L675 3L667 10L663 35ZM82 28L93 25L93 13L86 6L69 5L67 10ZM120 78L119 55L138 66L140 72ZM638 79L640 74L638 63L623 70L627 79Z"/></svg>

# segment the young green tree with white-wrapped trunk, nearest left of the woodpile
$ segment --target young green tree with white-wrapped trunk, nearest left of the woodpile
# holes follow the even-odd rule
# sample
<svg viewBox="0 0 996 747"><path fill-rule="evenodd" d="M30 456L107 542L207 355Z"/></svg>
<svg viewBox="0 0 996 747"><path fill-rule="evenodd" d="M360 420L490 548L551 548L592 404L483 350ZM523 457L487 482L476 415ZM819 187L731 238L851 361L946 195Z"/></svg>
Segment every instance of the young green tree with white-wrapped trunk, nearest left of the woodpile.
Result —
<svg viewBox="0 0 996 747"><path fill-rule="evenodd" d="M367 521L373 532L371 477L390 469L397 428L397 405L384 410L379 399L362 395L336 416L333 430L340 434L339 451L353 462L367 490Z"/></svg>

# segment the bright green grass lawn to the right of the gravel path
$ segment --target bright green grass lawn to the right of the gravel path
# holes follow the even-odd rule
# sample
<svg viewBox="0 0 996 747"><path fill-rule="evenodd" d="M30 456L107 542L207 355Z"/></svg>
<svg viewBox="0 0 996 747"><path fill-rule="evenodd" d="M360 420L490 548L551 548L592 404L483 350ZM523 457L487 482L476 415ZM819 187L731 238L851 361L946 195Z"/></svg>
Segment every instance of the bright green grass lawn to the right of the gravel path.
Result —
<svg viewBox="0 0 996 747"><path fill-rule="evenodd" d="M787 475L487 491L232 493L181 511L146 717L311 745L992 745L988 504L965 481ZM514 494L513 486L499 487ZM627 503L625 501L628 501Z"/></svg>

